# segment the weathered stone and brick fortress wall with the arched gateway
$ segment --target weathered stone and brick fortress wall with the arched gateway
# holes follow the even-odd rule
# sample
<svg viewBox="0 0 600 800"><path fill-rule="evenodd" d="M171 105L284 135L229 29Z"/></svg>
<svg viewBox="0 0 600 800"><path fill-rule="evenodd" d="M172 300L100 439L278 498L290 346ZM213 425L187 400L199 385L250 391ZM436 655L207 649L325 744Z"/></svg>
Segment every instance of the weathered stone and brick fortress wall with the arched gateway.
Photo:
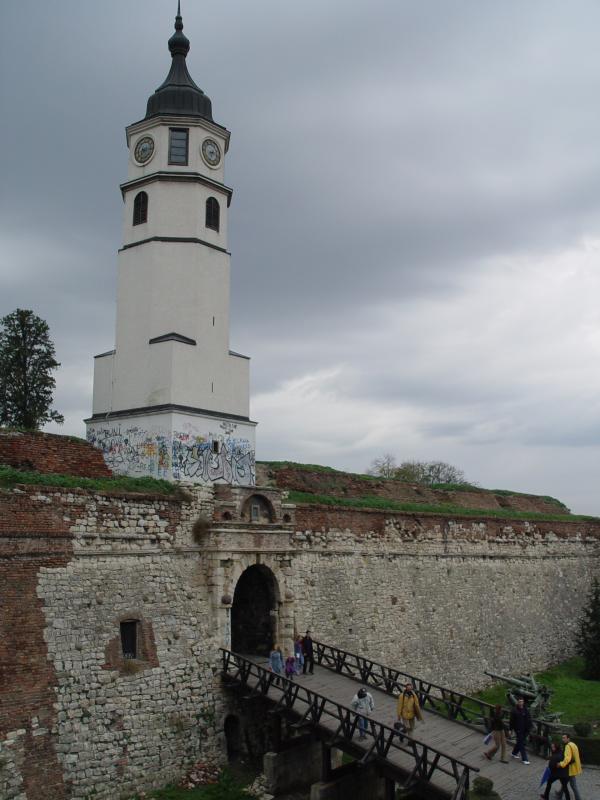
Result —
<svg viewBox="0 0 600 800"><path fill-rule="evenodd" d="M274 488L0 495L0 797L113 800L224 758L219 647L240 577L275 587L274 636L453 686L571 655L600 524L286 503ZM260 495L261 513L250 505ZM135 662L120 623L137 620ZM93 794L95 792L95 794Z"/></svg>

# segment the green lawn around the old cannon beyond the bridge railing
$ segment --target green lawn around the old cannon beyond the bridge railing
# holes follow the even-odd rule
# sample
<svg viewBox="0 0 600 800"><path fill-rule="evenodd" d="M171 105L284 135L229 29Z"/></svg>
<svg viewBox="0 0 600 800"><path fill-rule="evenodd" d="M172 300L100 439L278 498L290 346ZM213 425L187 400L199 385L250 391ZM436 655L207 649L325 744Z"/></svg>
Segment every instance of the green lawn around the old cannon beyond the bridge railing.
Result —
<svg viewBox="0 0 600 800"><path fill-rule="evenodd" d="M583 677L583 659L563 661L545 672L535 673L538 683L554 690L549 711L562 711L561 722L600 722L600 681ZM506 683L495 683L477 694L486 703L506 705Z"/></svg>

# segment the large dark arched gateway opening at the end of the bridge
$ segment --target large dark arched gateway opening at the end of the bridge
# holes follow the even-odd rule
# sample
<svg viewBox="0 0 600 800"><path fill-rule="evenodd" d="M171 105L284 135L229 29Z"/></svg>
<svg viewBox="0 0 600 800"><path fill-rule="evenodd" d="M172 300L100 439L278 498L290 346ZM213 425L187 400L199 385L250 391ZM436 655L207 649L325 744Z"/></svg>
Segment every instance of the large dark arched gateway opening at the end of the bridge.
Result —
<svg viewBox="0 0 600 800"><path fill-rule="evenodd" d="M274 644L277 596L275 576L262 565L242 572L231 609L231 649L234 653L269 655Z"/></svg>

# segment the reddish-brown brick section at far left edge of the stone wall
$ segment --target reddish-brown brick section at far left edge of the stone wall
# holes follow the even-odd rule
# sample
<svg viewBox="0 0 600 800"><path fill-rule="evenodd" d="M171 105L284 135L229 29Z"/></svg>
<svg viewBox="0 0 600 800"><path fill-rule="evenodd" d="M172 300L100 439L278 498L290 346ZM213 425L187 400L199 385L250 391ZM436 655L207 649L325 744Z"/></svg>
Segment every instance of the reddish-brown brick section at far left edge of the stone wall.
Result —
<svg viewBox="0 0 600 800"><path fill-rule="evenodd" d="M26 492L0 499L0 741L7 759L0 796L62 800L66 787L51 732L58 679L37 587L42 570L69 562L73 537L55 510L35 513Z"/></svg>

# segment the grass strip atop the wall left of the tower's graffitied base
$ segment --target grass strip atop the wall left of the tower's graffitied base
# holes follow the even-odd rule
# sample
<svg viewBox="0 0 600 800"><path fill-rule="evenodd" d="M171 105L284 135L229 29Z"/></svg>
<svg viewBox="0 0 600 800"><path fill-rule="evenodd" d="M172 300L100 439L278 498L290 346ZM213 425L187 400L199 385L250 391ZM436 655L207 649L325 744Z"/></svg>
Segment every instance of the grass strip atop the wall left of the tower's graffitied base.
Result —
<svg viewBox="0 0 600 800"><path fill-rule="evenodd" d="M97 492L136 492L143 494L173 494L177 487L156 478L80 478L77 475L26 472L0 464L0 487L17 484L30 486L60 486L65 489L90 489Z"/></svg>

